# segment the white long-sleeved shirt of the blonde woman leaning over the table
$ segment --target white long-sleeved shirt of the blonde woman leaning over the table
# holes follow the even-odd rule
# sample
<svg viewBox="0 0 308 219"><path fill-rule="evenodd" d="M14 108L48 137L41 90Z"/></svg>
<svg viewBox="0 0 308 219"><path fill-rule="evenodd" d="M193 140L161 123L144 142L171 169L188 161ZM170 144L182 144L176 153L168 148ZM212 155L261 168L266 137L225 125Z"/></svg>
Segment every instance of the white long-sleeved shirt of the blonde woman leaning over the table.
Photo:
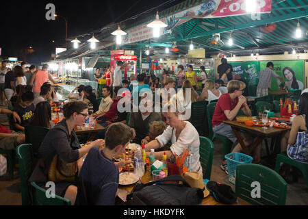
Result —
<svg viewBox="0 0 308 219"><path fill-rule="evenodd" d="M184 165L188 167L189 171L199 172L202 176L203 174L199 154L200 138L198 131L196 131L190 122L185 121L184 123L186 123L185 128L179 134L178 139L175 137L177 130L168 126L164 133L162 133L161 136L158 136L156 140L159 142L161 147L166 145L171 140L172 146L170 147L170 150L178 156L183 154L184 149L189 149L192 157L187 157Z"/></svg>

